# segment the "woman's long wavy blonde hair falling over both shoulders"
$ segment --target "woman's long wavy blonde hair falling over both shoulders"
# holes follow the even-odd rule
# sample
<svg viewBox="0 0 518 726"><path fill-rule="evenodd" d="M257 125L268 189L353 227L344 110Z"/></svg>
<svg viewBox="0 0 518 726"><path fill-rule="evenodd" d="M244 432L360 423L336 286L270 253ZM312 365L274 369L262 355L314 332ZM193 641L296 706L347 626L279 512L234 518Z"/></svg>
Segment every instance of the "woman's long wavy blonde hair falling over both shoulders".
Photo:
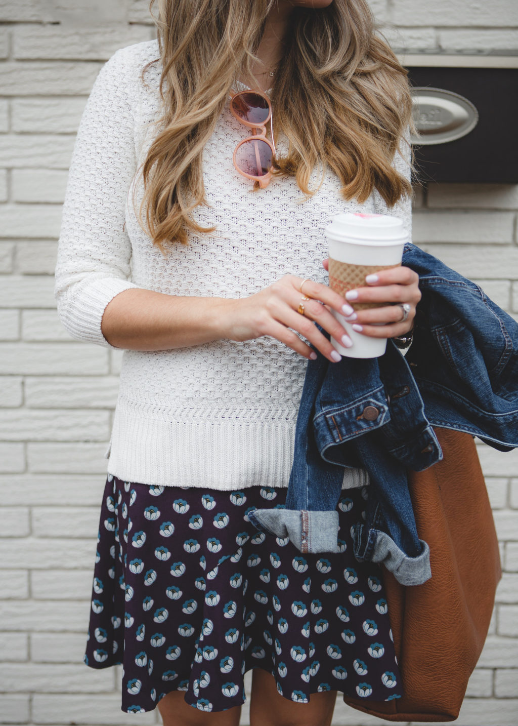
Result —
<svg viewBox="0 0 518 726"><path fill-rule="evenodd" d="M157 3L162 62L160 133L141 165L144 196L137 218L153 244L186 244L200 227L192 211L205 204L202 151L231 86L252 76L268 12L276 0L151 0ZM411 123L406 70L375 33L366 0L295 7L275 76L274 132L289 150L275 174L295 176L306 195L317 163L337 174L345 199L364 202L377 189L393 206L411 193L393 166ZM324 178L324 177L322 177ZM145 223L142 211L146 211Z"/></svg>

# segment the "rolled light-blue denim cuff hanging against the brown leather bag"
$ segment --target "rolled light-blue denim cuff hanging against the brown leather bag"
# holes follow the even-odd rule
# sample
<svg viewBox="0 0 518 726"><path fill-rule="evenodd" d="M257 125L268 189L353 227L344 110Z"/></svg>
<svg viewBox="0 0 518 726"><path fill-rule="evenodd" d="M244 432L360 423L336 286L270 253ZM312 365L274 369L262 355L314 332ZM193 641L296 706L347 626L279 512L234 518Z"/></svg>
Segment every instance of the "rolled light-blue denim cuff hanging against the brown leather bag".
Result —
<svg viewBox="0 0 518 726"><path fill-rule="evenodd" d="M421 552L416 557L406 555L395 544L392 537L377 529L369 531L367 545L363 552L364 555L369 553L367 556L361 556L358 552L359 541L356 534L354 540L354 554L358 560L382 563L402 585L422 585L432 576L430 550L424 539L419 539Z"/></svg>

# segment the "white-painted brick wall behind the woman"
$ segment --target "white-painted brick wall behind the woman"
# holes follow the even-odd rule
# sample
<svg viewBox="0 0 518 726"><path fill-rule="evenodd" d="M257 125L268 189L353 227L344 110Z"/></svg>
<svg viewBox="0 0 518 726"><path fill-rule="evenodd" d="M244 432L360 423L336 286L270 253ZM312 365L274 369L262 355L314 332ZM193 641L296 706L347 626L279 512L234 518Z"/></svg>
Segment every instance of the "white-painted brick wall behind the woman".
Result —
<svg viewBox="0 0 518 726"><path fill-rule="evenodd" d="M116 49L153 37L148 5L0 0L0 724L134 723L120 670L81 664L120 353L67 337L52 272L86 97ZM371 5L400 51L518 51L516 0ZM518 187L432 185L416 207L416 242L518 314ZM504 576L457 723L517 726L518 452L479 450ZM339 700L333 723L381 722Z"/></svg>

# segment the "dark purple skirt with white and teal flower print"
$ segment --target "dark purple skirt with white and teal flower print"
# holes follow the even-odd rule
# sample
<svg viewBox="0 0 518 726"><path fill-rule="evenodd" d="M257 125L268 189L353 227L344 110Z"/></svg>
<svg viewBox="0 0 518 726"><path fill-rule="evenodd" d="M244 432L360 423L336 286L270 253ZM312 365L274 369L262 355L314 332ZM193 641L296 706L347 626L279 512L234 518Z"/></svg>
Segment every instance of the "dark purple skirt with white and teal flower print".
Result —
<svg viewBox="0 0 518 726"><path fill-rule="evenodd" d="M171 690L202 711L224 711L244 702L253 668L297 703L324 690L400 698L379 567L352 553L366 490L343 492L341 552L332 555L301 555L252 526L247 512L284 506L286 492L108 476L84 661L123 664L123 711L151 711Z"/></svg>

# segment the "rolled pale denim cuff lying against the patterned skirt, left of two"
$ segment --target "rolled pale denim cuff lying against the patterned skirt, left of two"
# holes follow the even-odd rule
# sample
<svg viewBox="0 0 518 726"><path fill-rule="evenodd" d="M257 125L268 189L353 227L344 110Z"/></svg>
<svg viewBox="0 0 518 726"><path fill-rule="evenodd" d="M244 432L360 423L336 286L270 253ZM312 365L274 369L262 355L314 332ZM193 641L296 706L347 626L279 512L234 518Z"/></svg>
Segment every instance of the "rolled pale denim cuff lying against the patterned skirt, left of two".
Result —
<svg viewBox="0 0 518 726"><path fill-rule="evenodd" d="M255 509L248 518L258 529L288 537L299 552L338 552L337 511Z"/></svg>

